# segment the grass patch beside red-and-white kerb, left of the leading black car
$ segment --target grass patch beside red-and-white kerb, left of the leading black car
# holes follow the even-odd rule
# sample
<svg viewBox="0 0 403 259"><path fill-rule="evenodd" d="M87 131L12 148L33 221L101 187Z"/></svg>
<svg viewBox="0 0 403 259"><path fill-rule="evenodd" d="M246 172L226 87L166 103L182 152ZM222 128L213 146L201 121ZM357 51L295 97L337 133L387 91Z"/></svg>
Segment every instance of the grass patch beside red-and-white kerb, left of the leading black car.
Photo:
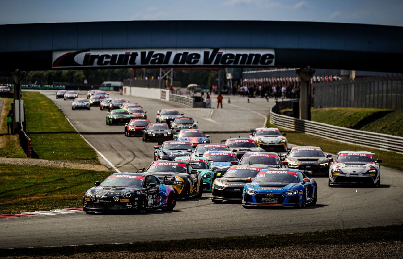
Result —
<svg viewBox="0 0 403 259"><path fill-rule="evenodd" d="M0 164L0 213L64 209L82 205L94 181L111 172Z"/></svg>

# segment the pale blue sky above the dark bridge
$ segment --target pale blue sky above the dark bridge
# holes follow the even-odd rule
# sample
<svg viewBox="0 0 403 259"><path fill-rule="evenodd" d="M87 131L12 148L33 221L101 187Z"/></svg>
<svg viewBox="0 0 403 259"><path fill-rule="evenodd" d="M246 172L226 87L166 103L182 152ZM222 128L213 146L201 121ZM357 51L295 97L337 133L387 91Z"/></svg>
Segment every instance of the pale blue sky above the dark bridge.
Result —
<svg viewBox="0 0 403 259"><path fill-rule="evenodd" d="M403 0L0 0L0 24L263 20L403 26Z"/></svg>

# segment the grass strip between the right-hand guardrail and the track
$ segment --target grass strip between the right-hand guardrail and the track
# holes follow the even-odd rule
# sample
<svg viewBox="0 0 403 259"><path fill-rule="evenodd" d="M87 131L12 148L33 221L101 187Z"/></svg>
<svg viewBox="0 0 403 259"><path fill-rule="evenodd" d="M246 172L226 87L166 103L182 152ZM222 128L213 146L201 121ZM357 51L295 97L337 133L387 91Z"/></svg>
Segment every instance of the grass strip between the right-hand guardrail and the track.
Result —
<svg viewBox="0 0 403 259"><path fill-rule="evenodd" d="M268 127L277 127L274 124L271 124L269 121L267 122ZM289 143L294 145L310 145L310 146L318 146L321 147L325 152L334 154L335 152L343 151L343 150L365 150L376 153L375 158L380 158L383 160L382 166L386 166L389 168L394 168L397 170L403 170L403 154L398 154L390 151L383 151L378 149L371 149L368 147L361 147L358 145L350 145L346 143L340 143L336 141L331 141L328 139L322 139L319 137L313 137L304 133L297 133L295 131L289 131L283 128L280 128L280 131L287 133L287 139Z"/></svg>

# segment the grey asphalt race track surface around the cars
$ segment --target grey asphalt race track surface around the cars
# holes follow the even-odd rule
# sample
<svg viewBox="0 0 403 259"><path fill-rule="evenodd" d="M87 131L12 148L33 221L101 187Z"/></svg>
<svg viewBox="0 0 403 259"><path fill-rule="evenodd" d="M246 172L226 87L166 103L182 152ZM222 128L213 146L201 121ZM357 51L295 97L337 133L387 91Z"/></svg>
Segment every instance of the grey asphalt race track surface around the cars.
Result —
<svg viewBox="0 0 403 259"><path fill-rule="evenodd" d="M143 143L141 138L125 137L123 126L107 126L106 111L100 111L98 107L89 111L73 111L70 101L55 99L54 91L44 93L54 99L77 130L121 172L133 172L139 165L147 166L152 161L153 146L156 144ZM178 108L198 120L199 128L204 131L233 132L212 133L213 142L226 139L229 135L237 137L237 131L263 126L264 117L273 105L273 100L267 103L264 99L251 99L251 104L247 104L246 98L231 97L231 104L224 99L224 109L210 110L184 108L153 99L125 99L141 104L152 122L155 122L156 111L160 108ZM142 215L87 215L79 212L1 220L0 247L208 238L401 224L403 174L381 167L381 178L380 188L358 189L329 188L326 177L316 178L318 204L305 209L243 209L239 204L214 204L209 199L210 193L205 193L200 199L178 201L172 212L155 211Z"/></svg>

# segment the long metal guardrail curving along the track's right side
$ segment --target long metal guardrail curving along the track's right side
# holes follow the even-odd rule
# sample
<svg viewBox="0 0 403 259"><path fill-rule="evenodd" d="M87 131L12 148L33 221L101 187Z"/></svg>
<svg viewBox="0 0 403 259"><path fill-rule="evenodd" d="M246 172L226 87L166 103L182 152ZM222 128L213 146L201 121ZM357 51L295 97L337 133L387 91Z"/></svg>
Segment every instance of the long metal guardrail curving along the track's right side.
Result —
<svg viewBox="0 0 403 259"><path fill-rule="evenodd" d="M275 111L278 110L276 106L279 103L276 103L270 111L270 123L280 128L351 145L403 153L403 137L370 131L359 131L277 114Z"/></svg>

